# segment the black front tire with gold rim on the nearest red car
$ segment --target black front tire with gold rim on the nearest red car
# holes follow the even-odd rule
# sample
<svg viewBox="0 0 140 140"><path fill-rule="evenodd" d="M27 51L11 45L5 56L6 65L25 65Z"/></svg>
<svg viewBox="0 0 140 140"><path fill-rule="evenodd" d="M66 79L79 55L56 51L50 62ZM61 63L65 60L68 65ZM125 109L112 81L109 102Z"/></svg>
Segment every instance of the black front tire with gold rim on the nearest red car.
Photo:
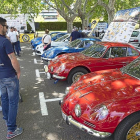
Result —
<svg viewBox="0 0 140 140"><path fill-rule="evenodd" d="M140 138L140 112L136 112L125 118L117 127L114 133L114 140L128 140L132 137L136 140ZM131 138L130 138L131 139Z"/></svg>

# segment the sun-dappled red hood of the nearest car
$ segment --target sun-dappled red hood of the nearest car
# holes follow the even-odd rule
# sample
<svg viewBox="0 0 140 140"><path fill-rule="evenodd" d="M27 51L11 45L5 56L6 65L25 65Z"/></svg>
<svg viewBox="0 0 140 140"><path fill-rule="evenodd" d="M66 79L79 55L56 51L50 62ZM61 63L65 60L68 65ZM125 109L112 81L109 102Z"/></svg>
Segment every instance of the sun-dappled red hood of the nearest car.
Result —
<svg viewBox="0 0 140 140"><path fill-rule="evenodd" d="M71 86L64 102L67 105L87 104L95 107L103 102L113 102L139 93L140 80L120 70L104 70L83 75Z"/></svg>

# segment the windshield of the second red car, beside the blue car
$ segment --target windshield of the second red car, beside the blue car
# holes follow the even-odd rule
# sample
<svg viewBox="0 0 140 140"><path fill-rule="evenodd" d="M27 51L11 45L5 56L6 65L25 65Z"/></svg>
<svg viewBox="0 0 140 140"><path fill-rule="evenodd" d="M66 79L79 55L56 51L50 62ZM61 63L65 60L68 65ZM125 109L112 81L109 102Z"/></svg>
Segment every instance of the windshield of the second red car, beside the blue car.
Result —
<svg viewBox="0 0 140 140"><path fill-rule="evenodd" d="M99 44L93 44L92 46L90 46L86 50L82 51L81 53L86 56L99 58L102 56L102 54L105 52L105 50L106 50L105 46L99 45Z"/></svg>

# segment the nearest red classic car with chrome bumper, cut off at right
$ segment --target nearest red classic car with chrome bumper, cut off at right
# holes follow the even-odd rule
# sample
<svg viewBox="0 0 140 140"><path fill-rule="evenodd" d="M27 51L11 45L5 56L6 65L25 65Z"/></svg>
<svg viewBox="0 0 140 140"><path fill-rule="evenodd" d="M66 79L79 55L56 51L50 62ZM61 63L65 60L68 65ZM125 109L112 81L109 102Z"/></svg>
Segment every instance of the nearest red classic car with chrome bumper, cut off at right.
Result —
<svg viewBox="0 0 140 140"><path fill-rule="evenodd" d="M97 137L140 140L140 57L121 69L81 76L61 101L68 124Z"/></svg>

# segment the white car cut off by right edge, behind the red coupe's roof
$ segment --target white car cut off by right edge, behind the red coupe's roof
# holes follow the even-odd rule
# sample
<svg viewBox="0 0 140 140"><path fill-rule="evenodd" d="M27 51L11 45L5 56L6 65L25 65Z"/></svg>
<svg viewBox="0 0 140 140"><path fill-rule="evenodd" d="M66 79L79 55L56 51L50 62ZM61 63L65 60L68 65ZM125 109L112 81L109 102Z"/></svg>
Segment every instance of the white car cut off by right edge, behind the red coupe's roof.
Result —
<svg viewBox="0 0 140 140"><path fill-rule="evenodd" d="M140 29L139 30L134 30L132 32L129 43L134 45L134 47L139 47L140 48Z"/></svg>

